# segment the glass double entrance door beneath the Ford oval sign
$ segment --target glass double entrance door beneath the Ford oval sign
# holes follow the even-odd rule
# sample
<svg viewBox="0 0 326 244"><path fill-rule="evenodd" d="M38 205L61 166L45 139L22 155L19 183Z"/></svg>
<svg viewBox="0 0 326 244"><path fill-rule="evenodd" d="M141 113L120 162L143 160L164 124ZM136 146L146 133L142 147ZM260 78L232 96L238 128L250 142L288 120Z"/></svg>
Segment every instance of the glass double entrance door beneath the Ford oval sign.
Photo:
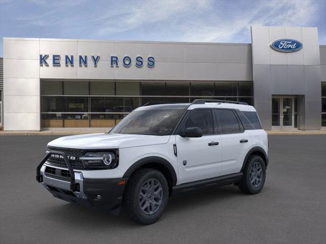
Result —
<svg viewBox="0 0 326 244"><path fill-rule="evenodd" d="M294 129L294 97L273 97L271 99L272 130Z"/></svg>

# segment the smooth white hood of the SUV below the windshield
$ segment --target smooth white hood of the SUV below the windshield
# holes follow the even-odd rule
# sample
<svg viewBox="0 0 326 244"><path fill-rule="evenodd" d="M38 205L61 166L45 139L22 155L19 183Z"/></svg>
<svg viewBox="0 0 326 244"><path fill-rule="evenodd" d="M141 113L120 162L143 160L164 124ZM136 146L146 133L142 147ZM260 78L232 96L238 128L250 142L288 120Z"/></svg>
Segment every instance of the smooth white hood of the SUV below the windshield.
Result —
<svg viewBox="0 0 326 244"><path fill-rule="evenodd" d="M126 148L164 144L170 136L95 133L64 136L49 142L48 146L76 149Z"/></svg>

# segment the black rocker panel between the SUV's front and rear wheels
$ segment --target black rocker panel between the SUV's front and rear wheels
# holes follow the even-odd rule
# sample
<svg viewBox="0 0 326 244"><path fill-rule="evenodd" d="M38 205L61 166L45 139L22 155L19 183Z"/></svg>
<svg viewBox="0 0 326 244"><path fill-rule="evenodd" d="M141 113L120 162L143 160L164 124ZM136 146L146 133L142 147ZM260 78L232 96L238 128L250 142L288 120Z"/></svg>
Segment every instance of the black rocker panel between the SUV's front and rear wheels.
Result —
<svg viewBox="0 0 326 244"><path fill-rule="evenodd" d="M177 195L183 192L192 191L205 187L222 187L239 182L242 179L243 173L228 174L209 179L202 179L198 181L184 183L173 187L172 195Z"/></svg>

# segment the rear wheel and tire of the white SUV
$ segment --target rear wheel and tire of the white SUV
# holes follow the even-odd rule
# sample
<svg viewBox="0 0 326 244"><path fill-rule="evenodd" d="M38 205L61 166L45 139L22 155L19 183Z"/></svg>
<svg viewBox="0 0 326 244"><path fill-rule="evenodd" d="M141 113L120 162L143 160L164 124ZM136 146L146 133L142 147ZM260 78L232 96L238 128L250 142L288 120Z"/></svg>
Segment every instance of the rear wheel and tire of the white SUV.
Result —
<svg viewBox="0 0 326 244"><path fill-rule="evenodd" d="M243 193L257 194L264 187L265 179L266 166L264 160L257 155L252 155L244 167L239 189Z"/></svg>

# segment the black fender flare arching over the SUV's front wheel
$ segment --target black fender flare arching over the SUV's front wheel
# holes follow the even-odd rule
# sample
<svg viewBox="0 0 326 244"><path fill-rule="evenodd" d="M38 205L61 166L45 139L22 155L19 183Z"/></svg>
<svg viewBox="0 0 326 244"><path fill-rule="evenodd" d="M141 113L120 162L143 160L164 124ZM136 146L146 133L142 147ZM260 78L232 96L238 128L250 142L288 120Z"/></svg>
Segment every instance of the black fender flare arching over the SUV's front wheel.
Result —
<svg viewBox="0 0 326 244"><path fill-rule="evenodd" d="M171 163L169 161L167 161L166 159L157 157L157 156L146 157L146 158L138 160L137 162L132 164L127 169L127 171L124 173L123 177L130 177L131 174L135 170L137 170L138 168L142 167L143 165L149 164L149 163L160 164L161 166L164 166L165 168L167 168L171 175L172 186L175 186L177 184L177 174L176 174L173 166L171 165Z"/></svg>

